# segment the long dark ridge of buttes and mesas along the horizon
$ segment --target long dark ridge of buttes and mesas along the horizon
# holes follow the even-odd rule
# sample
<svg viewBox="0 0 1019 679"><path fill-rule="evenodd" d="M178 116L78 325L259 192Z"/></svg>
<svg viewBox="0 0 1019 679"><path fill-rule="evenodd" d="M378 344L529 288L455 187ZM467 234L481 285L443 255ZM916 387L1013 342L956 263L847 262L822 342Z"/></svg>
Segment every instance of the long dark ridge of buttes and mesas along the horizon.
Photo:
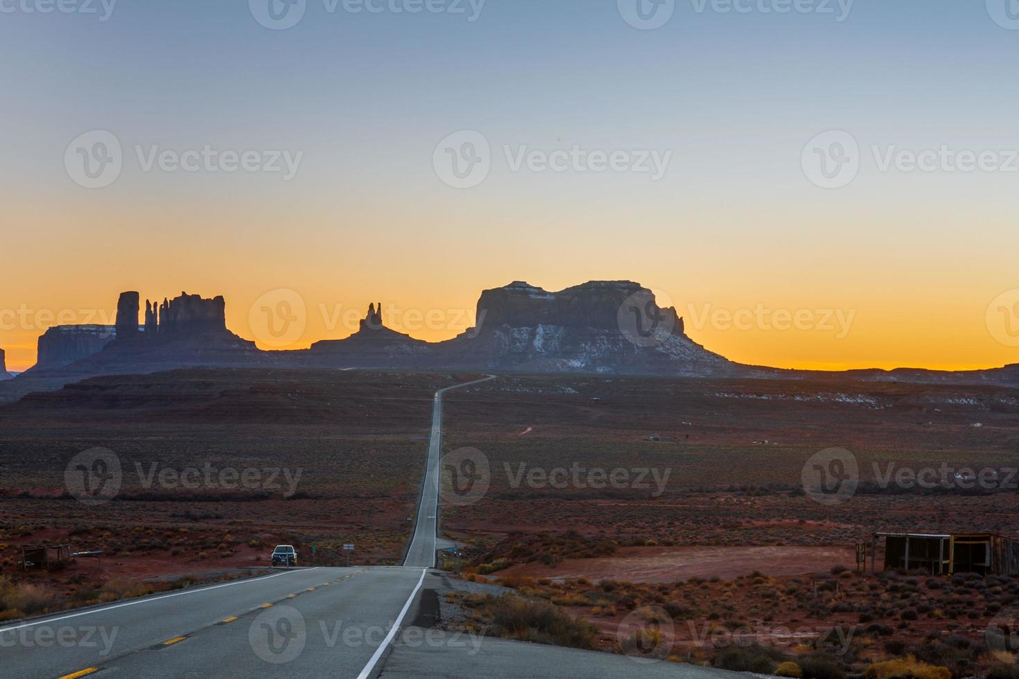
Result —
<svg viewBox="0 0 1019 679"><path fill-rule="evenodd" d="M694 342L674 307L632 281L591 281L549 292L523 281L485 290L477 327L429 343L386 328L382 306L368 309L360 329L298 351L264 351L226 327L223 297L182 292L162 302L124 292L116 326L61 326L40 342L40 363L10 380L0 362L0 398L111 374L177 367L370 367L491 370L665 377L839 377L863 381L981 383L1019 386L1019 364L962 373L901 369L818 373L733 362ZM49 339L47 340L47 338ZM46 341L44 341L46 340ZM44 345L51 343L47 352ZM0 351L0 361L2 361ZM5 397L6 395L6 397Z"/></svg>

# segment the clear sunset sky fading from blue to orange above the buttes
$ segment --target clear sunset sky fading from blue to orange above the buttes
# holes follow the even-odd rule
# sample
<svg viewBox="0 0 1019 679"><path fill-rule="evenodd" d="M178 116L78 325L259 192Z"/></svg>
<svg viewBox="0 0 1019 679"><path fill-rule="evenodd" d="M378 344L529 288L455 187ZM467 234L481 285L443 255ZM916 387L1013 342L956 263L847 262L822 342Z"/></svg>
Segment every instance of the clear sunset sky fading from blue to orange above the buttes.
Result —
<svg viewBox="0 0 1019 679"><path fill-rule="evenodd" d="M742 362L1019 362L1013 0L293 1L0 0L9 370L122 290L299 348L516 280Z"/></svg>

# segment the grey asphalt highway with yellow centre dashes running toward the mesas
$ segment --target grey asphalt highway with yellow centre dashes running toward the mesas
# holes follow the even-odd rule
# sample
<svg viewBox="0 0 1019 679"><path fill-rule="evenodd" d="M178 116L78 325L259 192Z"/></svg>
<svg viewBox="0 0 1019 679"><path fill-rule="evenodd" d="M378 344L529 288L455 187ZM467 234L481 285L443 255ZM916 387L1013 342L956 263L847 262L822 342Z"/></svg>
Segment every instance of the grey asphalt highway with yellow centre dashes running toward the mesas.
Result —
<svg viewBox="0 0 1019 679"><path fill-rule="evenodd" d="M487 378L493 379L493 378ZM468 384L477 384L479 380ZM642 677L730 673L418 626L437 607L442 394L404 566L296 568L0 624L0 677Z"/></svg>

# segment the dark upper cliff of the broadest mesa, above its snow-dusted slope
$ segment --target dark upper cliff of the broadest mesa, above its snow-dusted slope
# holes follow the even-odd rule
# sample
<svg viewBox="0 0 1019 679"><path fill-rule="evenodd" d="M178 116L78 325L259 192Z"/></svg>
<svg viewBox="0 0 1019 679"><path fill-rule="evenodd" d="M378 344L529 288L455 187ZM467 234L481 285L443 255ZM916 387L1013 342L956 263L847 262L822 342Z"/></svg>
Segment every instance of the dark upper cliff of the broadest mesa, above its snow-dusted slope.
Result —
<svg viewBox="0 0 1019 679"><path fill-rule="evenodd" d="M676 309L658 306L653 292L632 281L591 281L559 292L515 281L481 293L478 325L482 332L486 327L540 325L618 331L620 309L635 295L643 304L653 305L644 313L672 322L673 334L684 334L683 319Z"/></svg>

